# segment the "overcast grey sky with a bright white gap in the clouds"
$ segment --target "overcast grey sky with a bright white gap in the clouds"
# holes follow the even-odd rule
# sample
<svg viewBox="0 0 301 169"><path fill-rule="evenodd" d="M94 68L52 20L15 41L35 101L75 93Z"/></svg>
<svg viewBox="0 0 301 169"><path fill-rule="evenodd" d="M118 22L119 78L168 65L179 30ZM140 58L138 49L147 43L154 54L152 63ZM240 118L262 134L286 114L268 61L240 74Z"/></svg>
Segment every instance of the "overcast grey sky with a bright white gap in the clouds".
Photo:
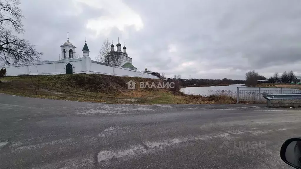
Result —
<svg viewBox="0 0 301 169"><path fill-rule="evenodd" d="M58 60L69 40L95 60L105 39L138 71L244 79L255 70L301 73L300 0L21 0L24 37Z"/></svg>

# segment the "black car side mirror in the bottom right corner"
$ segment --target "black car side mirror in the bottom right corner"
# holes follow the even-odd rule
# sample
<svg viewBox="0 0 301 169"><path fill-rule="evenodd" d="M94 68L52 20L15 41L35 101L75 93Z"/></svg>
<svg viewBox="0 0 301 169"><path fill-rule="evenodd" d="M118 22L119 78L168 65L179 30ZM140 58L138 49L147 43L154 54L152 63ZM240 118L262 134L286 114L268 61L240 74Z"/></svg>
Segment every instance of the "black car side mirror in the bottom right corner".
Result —
<svg viewBox="0 0 301 169"><path fill-rule="evenodd" d="M281 146L280 157L290 166L301 169L301 138L286 140Z"/></svg>

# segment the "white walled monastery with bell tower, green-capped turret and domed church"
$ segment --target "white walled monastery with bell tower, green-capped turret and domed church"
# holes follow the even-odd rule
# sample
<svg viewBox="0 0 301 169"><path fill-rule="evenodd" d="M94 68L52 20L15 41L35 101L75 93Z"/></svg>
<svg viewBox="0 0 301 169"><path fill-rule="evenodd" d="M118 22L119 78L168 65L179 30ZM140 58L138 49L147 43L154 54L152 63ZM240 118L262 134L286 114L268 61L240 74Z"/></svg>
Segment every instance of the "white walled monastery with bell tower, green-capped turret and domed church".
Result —
<svg viewBox="0 0 301 169"><path fill-rule="evenodd" d="M121 67L108 65L105 63L97 62L91 60L89 57L89 48L87 41L82 49L82 58L74 59L76 56L76 47L69 42L69 37L67 42L61 45L61 58L58 61L51 62L39 62L28 65L14 65L0 67L6 68L6 76L19 76L19 75L54 75L54 74L107 74L114 76L129 76L129 77L144 77L144 78L154 78L157 76L152 74L139 72L137 68L132 65L132 58L126 53L126 47L123 47L123 52L121 51L121 44L118 42L117 51L122 55ZM115 52L114 45L111 45L111 52Z"/></svg>

